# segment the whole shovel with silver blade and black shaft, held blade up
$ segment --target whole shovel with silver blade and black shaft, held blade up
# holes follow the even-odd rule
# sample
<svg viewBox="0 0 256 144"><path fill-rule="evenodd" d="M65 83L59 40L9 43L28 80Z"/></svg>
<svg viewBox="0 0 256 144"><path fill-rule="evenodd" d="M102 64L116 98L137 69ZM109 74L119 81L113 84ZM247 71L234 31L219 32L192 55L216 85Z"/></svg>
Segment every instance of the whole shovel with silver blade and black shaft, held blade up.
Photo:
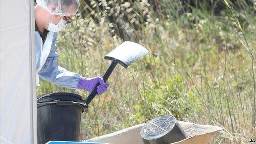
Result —
<svg viewBox="0 0 256 144"><path fill-rule="evenodd" d="M127 68L130 64L132 64L148 52L149 51L143 46L131 41L125 41L121 45L117 46L117 48L112 50L104 57L105 59L112 60L112 63L110 64L109 68L103 76L104 82L107 81L108 77L110 76L110 74L112 73L112 71L118 63L121 64L124 68ZM96 94L97 87L94 88L91 94L84 101L84 103L86 103L85 112L89 111L88 105L96 96Z"/></svg>

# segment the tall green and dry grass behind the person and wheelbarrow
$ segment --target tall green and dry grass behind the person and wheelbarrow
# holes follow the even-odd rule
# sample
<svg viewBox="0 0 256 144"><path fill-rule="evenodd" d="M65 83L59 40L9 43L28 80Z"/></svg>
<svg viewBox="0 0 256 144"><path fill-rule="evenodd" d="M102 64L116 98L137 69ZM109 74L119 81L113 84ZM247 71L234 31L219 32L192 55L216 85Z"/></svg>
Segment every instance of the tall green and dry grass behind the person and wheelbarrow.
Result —
<svg viewBox="0 0 256 144"><path fill-rule="evenodd" d="M108 79L109 90L94 98L89 113L82 116L81 140L143 123L159 114L223 127L213 140L216 144L240 144L255 138L255 8L242 0L237 1L242 10L228 0L222 2L227 8L219 16L213 13L214 5L206 9L204 2L199 2L198 9L191 7L190 12L179 14L178 3L162 1L168 9L162 9L160 16L146 1L123 5L120 13L126 12L133 23L141 23L139 30L121 15L117 17L129 38L146 47L149 54L128 69L116 67ZM105 17L110 11L94 11L98 23L91 15L77 17L59 32L56 48L60 66L86 77L103 76L110 65L104 55L122 42ZM57 89L84 98L89 95L43 80L37 93Z"/></svg>

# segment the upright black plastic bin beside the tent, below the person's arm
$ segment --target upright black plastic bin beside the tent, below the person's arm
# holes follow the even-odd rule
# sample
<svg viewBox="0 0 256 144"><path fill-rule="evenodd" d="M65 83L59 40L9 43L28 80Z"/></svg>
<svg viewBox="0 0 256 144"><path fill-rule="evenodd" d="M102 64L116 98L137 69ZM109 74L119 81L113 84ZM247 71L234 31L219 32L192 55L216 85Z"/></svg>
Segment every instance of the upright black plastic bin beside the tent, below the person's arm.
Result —
<svg viewBox="0 0 256 144"><path fill-rule="evenodd" d="M79 141L82 96L56 92L37 97L37 143L50 140Z"/></svg>

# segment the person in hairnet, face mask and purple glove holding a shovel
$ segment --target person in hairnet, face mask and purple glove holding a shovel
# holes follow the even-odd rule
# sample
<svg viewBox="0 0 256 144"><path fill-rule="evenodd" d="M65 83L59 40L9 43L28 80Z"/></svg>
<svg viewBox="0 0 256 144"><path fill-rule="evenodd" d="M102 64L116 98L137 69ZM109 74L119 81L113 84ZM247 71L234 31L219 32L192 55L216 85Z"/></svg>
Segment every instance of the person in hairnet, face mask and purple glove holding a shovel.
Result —
<svg viewBox="0 0 256 144"><path fill-rule="evenodd" d="M108 83L101 77L85 78L78 73L58 66L55 50L57 32L63 30L77 13L79 0L37 0L35 9L35 43L37 85L39 77L53 84L69 89L93 91L98 95L107 91Z"/></svg>

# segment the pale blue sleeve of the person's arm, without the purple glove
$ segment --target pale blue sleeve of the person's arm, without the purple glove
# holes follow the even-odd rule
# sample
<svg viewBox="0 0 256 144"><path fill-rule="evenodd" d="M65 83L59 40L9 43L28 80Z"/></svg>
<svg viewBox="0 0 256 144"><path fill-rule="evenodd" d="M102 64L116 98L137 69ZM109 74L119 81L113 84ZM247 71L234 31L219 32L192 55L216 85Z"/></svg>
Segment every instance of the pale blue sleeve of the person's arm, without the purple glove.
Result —
<svg viewBox="0 0 256 144"><path fill-rule="evenodd" d="M56 39L57 34L55 33L50 53L38 74L43 80L52 82L57 86L66 87L69 89L77 89L81 75L67 71L63 67L58 66L57 59L59 55L55 50Z"/></svg>

